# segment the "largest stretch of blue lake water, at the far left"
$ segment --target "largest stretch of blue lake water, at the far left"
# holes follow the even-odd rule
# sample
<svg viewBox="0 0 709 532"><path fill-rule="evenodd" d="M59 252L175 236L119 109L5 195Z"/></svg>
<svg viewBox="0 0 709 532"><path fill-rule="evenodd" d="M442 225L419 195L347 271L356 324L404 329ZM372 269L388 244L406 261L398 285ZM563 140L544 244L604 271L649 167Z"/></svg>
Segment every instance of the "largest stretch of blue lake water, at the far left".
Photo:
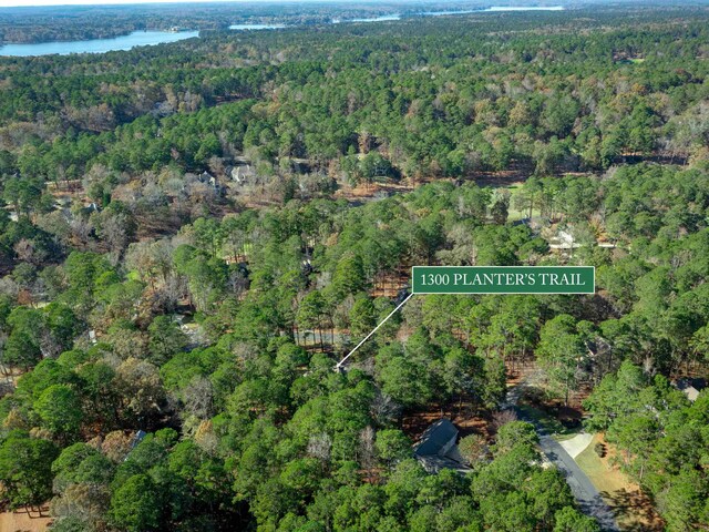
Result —
<svg viewBox="0 0 709 532"><path fill-rule="evenodd" d="M175 42L191 37L198 37L198 31L134 31L127 35L113 39L92 39L90 41L52 41L32 44L6 44L0 47L0 55L49 55L58 53L103 53L113 50L131 50L134 47L160 44L162 42Z"/></svg>

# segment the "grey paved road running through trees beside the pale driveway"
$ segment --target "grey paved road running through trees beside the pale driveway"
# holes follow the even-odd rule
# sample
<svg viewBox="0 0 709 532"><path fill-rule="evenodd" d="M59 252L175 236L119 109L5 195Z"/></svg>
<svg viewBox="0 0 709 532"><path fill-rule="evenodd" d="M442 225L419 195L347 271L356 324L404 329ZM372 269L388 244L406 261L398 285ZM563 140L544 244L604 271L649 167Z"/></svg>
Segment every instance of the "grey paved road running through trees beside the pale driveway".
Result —
<svg viewBox="0 0 709 532"><path fill-rule="evenodd" d="M517 413L517 418L522 421L527 421L536 427L536 432L540 436L540 448L546 458L552 462L562 474L566 478L566 483L572 490L572 493L578 502L578 507L586 515L595 518L605 532L619 532L616 520L613 515L613 510L606 504L606 502L596 490L596 487L588 480L586 473L582 471L574 459L564 450L564 448L547 434L544 428L540 426L534 419L526 417L517 407L516 402L522 392L521 386L517 385L510 389L507 392L507 408L513 408Z"/></svg>

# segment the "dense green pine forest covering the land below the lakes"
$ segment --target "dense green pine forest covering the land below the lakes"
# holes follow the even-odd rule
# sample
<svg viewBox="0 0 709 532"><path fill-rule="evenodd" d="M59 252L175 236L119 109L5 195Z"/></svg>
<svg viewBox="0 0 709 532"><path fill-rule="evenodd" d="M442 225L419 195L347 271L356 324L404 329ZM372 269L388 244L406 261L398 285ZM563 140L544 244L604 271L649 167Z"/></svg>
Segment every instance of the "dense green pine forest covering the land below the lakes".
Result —
<svg viewBox="0 0 709 532"><path fill-rule="evenodd" d="M709 526L709 392L676 386L709 377L708 21L0 58L3 508L62 532L599 531L504 410L532 366L667 530ZM335 371L414 265L588 265L596 294L414 296ZM465 474L414 459L422 412L485 427Z"/></svg>

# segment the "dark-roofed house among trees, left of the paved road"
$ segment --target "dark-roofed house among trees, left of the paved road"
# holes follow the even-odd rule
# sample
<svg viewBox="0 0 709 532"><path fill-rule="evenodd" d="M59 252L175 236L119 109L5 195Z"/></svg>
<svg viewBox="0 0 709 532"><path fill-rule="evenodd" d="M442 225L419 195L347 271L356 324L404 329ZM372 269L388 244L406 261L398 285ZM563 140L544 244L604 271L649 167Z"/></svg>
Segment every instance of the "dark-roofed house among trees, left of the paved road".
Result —
<svg viewBox="0 0 709 532"><path fill-rule="evenodd" d="M458 429L449 419L442 418L421 434L413 448L413 456L432 473L441 469L470 471L458 451L456 442Z"/></svg>

